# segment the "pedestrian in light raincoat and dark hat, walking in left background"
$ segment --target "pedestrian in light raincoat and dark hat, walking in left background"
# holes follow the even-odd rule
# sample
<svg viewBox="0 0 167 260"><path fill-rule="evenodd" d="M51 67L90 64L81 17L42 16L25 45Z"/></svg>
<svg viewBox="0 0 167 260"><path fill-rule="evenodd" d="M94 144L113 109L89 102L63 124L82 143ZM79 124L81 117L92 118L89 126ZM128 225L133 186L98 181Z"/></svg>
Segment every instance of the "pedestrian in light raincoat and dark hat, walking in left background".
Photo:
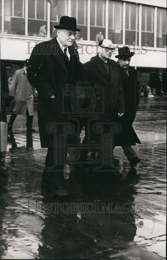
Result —
<svg viewBox="0 0 167 260"><path fill-rule="evenodd" d="M12 114L8 123L8 132L12 130L17 115L26 116L27 131L35 132L32 128L35 89L27 79L28 62L29 59L26 59L24 68L16 70L12 78L10 96L13 97L13 101L10 104Z"/></svg>

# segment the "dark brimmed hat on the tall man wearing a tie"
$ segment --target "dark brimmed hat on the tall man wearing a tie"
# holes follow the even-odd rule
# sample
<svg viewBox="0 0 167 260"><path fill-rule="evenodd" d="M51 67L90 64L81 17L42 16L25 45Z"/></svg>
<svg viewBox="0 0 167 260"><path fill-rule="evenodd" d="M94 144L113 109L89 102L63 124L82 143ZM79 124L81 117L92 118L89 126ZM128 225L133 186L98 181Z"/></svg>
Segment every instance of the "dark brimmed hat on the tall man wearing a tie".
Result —
<svg viewBox="0 0 167 260"><path fill-rule="evenodd" d="M80 32L81 29L76 28L76 18L69 16L61 16L59 25L53 26L55 29L67 29Z"/></svg>

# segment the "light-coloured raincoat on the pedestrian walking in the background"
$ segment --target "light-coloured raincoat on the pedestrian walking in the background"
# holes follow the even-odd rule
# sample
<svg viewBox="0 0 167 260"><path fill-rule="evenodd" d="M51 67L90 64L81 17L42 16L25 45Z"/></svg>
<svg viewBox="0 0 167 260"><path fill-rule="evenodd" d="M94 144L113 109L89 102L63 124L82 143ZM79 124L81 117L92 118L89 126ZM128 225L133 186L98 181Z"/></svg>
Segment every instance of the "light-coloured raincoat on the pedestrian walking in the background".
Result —
<svg viewBox="0 0 167 260"><path fill-rule="evenodd" d="M33 115L35 89L29 83L24 68L16 70L13 75L10 96L14 97L10 104L13 113L25 116L28 109L29 115Z"/></svg>

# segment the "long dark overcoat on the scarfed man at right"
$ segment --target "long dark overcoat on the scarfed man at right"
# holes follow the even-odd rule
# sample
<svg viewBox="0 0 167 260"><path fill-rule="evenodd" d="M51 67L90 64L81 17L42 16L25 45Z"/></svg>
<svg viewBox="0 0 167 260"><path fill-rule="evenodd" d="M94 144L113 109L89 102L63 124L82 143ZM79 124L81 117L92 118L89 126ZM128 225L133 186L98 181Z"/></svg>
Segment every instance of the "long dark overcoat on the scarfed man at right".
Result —
<svg viewBox="0 0 167 260"><path fill-rule="evenodd" d="M129 66L129 77L120 66L122 87L124 93L125 113L121 117L116 117L116 122L120 123L122 130L114 136L115 146L141 144L132 123L135 120L137 106L139 103L139 90L137 84L137 70Z"/></svg>

